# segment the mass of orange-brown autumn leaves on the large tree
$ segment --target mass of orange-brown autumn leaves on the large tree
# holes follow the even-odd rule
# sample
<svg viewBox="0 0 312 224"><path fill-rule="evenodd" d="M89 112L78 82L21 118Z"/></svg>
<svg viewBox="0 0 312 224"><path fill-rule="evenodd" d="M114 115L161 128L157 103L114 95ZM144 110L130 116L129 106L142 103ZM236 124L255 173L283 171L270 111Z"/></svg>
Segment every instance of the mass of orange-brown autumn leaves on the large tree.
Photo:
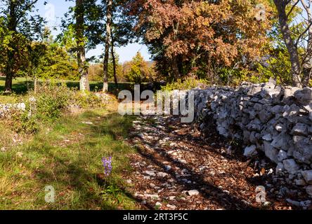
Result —
<svg viewBox="0 0 312 224"><path fill-rule="evenodd" d="M270 22L254 20L254 15L257 4L267 6L267 0L137 1L143 3L138 24L145 41L161 45L168 58L180 55L184 62L201 58L233 66L243 56L259 57L266 43Z"/></svg>

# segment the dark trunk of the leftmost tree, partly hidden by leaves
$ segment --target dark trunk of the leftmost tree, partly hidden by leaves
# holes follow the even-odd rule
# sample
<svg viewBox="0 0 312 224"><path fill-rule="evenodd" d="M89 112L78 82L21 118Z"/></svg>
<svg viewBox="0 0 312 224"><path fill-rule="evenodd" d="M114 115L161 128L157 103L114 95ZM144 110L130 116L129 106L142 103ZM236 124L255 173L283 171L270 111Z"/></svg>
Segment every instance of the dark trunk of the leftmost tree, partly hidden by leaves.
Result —
<svg viewBox="0 0 312 224"><path fill-rule="evenodd" d="M9 10L10 10L10 18L8 20L8 30L11 31L11 35L15 35L16 27L17 27L17 18L15 15L16 3L15 1L10 1ZM15 48L8 52L8 62L6 64L6 84L4 89L6 92L12 92L12 79L14 76L13 66L15 64Z"/></svg>

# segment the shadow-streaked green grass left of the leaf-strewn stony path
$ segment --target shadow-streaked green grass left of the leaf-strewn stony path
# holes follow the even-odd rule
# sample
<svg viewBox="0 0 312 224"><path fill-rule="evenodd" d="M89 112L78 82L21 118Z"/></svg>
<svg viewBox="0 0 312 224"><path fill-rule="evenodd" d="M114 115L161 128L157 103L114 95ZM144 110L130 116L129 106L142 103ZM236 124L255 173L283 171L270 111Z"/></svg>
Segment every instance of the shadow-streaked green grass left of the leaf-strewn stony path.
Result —
<svg viewBox="0 0 312 224"><path fill-rule="evenodd" d="M121 178L131 169L126 155L134 149L124 139L134 118L115 111L63 116L31 141L0 151L0 209L136 209ZM103 183L101 158L110 155L112 176ZM54 203L45 201L46 186L56 191Z"/></svg>

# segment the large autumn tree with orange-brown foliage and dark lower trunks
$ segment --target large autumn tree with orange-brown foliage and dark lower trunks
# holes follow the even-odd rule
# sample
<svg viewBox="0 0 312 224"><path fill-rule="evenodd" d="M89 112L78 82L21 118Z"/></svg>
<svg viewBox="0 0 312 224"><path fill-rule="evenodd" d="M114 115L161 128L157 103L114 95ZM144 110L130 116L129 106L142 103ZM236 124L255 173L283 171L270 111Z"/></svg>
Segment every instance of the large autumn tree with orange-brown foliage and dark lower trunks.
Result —
<svg viewBox="0 0 312 224"><path fill-rule="evenodd" d="M259 3L269 17L265 0L136 0L128 8L158 71L175 80L192 73L214 80L221 68L248 66L262 56L271 22L255 19Z"/></svg>

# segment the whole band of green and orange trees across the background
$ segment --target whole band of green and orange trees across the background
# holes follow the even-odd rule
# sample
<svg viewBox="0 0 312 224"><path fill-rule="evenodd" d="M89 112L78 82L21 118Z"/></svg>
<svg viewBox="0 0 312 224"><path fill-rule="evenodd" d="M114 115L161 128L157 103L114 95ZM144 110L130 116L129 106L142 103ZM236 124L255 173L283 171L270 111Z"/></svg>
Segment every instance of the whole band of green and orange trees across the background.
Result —
<svg viewBox="0 0 312 224"><path fill-rule="evenodd" d="M312 74L311 1L65 0L75 4L54 38L35 0L5 0L0 6L0 71L6 90L12 78L145 82L189 77L236 85L275 78L309 85ZM151 66L137 54L123 68L115 48L132 42L148 46ZM102 45L100 55L86 52ZM100 56L103 65L90 62ZM98 66L97 69L96 66ZM95 78L94 72L92 77Z"/></svg>

